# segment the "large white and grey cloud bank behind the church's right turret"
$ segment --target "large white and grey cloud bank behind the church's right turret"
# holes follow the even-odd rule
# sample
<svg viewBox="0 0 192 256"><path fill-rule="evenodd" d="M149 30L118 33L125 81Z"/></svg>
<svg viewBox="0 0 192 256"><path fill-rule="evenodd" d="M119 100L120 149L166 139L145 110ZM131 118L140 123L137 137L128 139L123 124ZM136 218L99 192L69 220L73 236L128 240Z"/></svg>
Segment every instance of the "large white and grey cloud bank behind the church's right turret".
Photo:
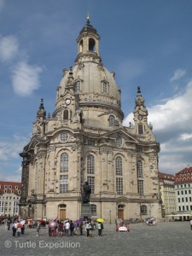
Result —
<svg viewBox="0 0 192 256"><path fill-rule="evenodd" d="M160 172L176 173L192 161L192 80L183 94L148 108L148 123L154 126L154 135L160 142ZM130 113L124 125L133 123ZM177 169L176 169L177 168Z"/></svg>

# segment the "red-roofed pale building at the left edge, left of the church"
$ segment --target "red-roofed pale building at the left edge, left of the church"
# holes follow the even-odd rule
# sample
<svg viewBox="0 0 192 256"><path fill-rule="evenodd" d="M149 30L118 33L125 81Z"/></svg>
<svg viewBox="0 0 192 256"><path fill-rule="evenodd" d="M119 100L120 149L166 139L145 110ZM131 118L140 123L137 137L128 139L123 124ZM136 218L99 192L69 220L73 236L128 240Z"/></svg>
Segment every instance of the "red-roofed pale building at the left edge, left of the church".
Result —
<svg viewBox="0 0 192 256"><path fill-rule="evenodd" d="M0 215L19 215L21 183L0 181Z"/></svg>

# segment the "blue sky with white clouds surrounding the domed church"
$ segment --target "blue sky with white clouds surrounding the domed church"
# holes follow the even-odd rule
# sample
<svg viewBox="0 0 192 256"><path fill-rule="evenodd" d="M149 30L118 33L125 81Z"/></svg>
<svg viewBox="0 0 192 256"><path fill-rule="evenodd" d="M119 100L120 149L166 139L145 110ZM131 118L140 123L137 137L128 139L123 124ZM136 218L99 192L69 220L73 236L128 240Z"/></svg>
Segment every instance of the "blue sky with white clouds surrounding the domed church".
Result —
<svg viewBox="0 0 192 256"><path fill-rule="evenodd" d="M191 0L0 0L0 180L20 182L19 154L41 98L52 114L87 13L122 92L124 125L133 123L139 85L160 143L159 171L192 166L191 10Z"/></svg>

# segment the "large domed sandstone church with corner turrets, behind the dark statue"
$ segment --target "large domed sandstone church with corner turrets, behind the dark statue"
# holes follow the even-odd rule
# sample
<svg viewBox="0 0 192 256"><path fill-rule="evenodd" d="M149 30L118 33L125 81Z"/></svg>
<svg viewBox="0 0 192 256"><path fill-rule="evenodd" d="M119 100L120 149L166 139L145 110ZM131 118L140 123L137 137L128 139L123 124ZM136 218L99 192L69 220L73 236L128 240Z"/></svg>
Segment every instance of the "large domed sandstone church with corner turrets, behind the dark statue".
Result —
<svg viewBox="0 0 192 256"><path fill-rule="evenodd" d="M125 127L120 89L103 66L99 41L87 18L75 63L63 70L56 90L55 111L46 116L40 103L32 138L20 153L21 218L79 219L86 181L92 218L161 217L160 144L140 87L134 124Z"/></svg>

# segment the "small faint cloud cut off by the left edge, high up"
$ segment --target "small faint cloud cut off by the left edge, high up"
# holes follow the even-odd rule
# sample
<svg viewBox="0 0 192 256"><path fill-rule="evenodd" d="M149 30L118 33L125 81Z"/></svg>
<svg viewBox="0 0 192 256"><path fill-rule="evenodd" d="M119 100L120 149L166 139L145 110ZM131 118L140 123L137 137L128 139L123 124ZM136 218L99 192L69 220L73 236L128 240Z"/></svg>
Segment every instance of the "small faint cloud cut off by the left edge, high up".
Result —
<svg viewBox="0 0 192 256"><path fill-rule="evenodd" d="M1 2L0 2L1 3ZM0 59L11 61L18 54L19 44L14 36L0 37Z"/></svg>

